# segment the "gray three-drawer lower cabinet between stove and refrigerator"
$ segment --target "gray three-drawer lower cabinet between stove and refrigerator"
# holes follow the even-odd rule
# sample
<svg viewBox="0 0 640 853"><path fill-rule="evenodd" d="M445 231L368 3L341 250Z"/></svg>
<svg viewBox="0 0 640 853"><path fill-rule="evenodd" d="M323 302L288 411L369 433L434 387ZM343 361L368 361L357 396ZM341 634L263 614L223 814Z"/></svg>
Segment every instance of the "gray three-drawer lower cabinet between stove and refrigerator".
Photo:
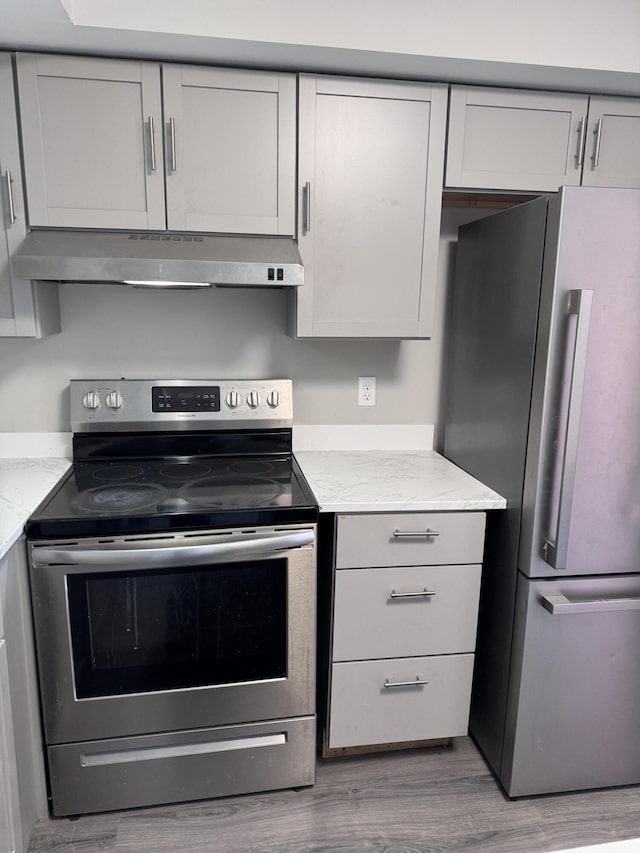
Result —
<svg viewBox="0 0 640 853"><path fill-rule="evenodd" d="M326 744L467 733L485 514L340 515Z"/></svg>

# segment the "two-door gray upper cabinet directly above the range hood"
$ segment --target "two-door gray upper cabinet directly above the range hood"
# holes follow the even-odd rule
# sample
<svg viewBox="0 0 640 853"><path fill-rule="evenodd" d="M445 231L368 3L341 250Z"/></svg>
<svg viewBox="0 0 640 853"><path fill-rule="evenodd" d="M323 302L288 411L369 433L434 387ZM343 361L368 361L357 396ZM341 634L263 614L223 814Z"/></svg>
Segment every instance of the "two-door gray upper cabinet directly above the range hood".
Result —
<svg viewBox="0 0 640 853"><path fill-rule="evenodd" d="M294 234L295 75L24 53L17 73L31 226Z"/></svg>

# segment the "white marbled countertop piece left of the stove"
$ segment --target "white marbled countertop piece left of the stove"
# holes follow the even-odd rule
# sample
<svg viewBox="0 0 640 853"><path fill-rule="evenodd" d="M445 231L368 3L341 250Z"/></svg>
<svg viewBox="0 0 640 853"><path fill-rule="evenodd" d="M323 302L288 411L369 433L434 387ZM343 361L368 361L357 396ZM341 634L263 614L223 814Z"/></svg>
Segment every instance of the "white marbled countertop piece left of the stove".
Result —
<svg viewBox="0 0 640 853"><path fill-rule="evenodd" d="M0 458L0 559L70 465L70 459Z"/></svg>

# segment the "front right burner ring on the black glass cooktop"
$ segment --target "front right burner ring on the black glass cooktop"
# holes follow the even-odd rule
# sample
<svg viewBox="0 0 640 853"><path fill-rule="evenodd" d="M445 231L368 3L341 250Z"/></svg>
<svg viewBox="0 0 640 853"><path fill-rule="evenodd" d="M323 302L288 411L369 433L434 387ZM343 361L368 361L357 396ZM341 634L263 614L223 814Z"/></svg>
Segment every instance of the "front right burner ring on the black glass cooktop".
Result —
<svg viewBox="0 0 640 853"><path fill-rule="evenodd" d="M187 483L180 497L196 506L216 509L244 509L269 506L284 492L284 486L266 477L221 475Z"/></svg>

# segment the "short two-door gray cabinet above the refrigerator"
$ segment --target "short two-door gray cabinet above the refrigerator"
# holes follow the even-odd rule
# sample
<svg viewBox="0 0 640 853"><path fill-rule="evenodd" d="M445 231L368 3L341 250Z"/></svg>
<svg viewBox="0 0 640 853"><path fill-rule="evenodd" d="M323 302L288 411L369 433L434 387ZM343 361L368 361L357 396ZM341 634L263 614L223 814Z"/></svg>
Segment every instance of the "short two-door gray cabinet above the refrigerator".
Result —
<svg viewBox="0 0 640 853"><path fill-rule="evenodd" d="M445 185L640 187L640 101L452 86Z"/></svg>

